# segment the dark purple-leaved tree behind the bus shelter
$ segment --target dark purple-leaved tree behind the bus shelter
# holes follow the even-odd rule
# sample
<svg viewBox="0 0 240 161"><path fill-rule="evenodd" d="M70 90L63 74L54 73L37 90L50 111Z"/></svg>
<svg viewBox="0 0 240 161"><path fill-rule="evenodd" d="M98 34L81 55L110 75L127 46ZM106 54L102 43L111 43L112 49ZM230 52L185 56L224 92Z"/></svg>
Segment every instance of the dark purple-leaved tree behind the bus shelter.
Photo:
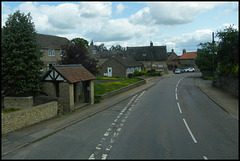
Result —
<svg viewBox="0 0 240 161"><path fill-rule="evenodd" d="M63 55L59 64L82 64L92 74L97 74L97 60L91 58L84 45L78 43L68 44L62 47Z"/></svg>

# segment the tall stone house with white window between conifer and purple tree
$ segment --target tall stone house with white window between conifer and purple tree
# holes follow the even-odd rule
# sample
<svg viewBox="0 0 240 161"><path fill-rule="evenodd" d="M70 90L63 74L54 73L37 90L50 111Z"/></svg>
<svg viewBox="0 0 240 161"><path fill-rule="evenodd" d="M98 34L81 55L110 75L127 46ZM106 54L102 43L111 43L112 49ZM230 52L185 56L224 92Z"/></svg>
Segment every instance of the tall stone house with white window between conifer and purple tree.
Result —
<svg viewBox="0 0 240 161"><path fill-rule="evenodd" d="M43 56L41 60L44 62L43 72L49 70L52 65L57 65L61 60L62 46L71 43L67 38L37 34L37 42L41 47Z"/></svg>

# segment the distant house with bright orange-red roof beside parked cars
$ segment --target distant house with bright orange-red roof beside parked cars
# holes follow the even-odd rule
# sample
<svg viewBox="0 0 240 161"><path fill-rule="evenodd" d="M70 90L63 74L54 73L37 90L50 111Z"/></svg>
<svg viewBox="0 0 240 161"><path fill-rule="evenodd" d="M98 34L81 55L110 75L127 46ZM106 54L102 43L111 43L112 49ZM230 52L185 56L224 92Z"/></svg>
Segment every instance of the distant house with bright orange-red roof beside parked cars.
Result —
<svg viewBox="0 0 240 161"><path fill-rule="evenodd" d="M197 52L186 52L183 49L183 55L178 58L178 63L181 68L194 67L197 68L195 64L195 59L197 57Z"/></svg>

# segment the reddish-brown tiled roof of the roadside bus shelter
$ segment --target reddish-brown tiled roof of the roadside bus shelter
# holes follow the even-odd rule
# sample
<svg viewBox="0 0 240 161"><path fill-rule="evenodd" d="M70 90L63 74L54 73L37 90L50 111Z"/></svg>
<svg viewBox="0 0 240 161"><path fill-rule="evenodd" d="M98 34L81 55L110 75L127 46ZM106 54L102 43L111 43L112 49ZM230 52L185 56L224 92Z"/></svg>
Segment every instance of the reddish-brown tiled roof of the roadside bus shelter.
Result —
<svg viewBox="0 0 240 161"><path fill-rule="evenodd" d="M96 79L96 77L81 64L56 65L53 66L53 69L60 73L70 83Z"/></svg>

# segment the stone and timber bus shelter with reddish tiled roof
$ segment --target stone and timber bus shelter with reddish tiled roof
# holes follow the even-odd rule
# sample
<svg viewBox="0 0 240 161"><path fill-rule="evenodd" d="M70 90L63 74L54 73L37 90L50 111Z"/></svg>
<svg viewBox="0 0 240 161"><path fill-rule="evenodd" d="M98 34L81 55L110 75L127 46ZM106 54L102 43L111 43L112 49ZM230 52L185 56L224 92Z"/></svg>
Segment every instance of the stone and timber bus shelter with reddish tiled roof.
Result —
<svg viewBox="0 0 240 161"><path fill-rule="evenodd" d="M95 79L81 64L55 65L43 76L44 92L59 97L64 111L73 111L79 102L94 103Z"/></svg>

